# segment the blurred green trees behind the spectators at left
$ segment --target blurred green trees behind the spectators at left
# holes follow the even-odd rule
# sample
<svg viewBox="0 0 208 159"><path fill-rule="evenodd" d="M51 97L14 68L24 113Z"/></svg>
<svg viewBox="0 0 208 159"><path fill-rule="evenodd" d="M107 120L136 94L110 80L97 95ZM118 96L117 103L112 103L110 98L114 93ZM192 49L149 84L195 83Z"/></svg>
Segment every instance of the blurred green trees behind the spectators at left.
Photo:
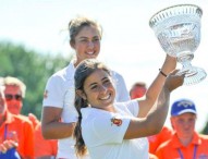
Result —
<svg viewBox="0 0 208 159"><path fill-rule="evenodd" d="M25 49L24 46L0 42L0 76L14 76L27 86L22 113L41 115L42 95L47 80L58 70L68 65L62 56L53 57Z"/></svg>

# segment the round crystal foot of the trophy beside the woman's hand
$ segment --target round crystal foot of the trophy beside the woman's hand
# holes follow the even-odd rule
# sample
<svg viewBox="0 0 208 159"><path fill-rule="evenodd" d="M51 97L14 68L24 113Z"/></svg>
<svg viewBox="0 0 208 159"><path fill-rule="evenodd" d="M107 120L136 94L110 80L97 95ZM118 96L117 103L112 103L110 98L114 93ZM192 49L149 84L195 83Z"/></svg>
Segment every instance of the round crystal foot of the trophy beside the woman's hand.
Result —
<svg viewBox="0 0 208 159"><path fill-rule="evenodd" d="M192 66L192 68L184 68L181 71L179 71L178 73L185 73L185 78L184 78L184 83L183 85L194 85L194 84L198 84L200 83L203 80L206 78L207 73L200 69L200 68L196 68L196 66Z"/></svg>

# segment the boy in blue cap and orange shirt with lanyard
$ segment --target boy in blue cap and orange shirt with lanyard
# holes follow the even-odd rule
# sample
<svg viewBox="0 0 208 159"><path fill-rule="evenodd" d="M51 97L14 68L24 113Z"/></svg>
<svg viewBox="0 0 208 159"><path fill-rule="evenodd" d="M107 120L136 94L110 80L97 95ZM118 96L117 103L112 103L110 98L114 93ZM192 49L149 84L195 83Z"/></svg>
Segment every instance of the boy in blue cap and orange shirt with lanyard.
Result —
<svg viewBox="0 0 208 159"><path fill-rule="evenodd" d="M159 159L208 158L208 135L195 131L196 118L196 107L192 100L180 99L173 102L170 120L174 134L157 149Z"/></svg>

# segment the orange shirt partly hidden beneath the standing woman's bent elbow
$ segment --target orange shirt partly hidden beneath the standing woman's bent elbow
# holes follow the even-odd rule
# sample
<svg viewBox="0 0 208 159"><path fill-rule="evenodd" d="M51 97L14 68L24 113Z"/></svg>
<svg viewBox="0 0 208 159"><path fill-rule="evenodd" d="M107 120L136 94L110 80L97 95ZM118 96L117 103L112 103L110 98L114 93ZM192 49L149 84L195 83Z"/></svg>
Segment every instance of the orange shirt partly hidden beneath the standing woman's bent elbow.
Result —
<svg viewBox="0 0 208 159"><path fill-rule="evenodd" d="M41 134L40 123L35 129L35 157L57 156L57 139L45 139Z"/></svg>

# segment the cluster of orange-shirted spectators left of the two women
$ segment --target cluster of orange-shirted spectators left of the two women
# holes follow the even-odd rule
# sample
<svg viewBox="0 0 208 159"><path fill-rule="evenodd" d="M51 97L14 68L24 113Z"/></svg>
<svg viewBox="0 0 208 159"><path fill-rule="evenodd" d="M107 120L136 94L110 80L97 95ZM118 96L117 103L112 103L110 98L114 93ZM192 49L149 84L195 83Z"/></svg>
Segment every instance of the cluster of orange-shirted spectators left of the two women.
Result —
<svg viewBox="0 0 208 159"><path fill-rule="evenodd" d="M40 121L33 114L21 114L25 84L16 77L0 78L0 158L51 159L57 140L44 139Z"/></svg>

